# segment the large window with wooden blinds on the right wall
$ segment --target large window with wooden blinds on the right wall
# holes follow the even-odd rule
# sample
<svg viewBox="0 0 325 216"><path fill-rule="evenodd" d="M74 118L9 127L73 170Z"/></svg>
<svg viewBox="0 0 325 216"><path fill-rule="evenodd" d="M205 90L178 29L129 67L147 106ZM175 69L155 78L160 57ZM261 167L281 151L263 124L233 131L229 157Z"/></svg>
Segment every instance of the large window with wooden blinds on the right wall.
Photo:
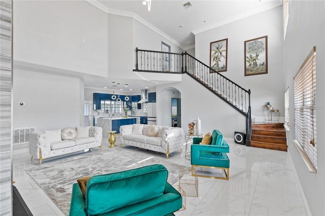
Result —
<svg viewBox="0 0 325 216"><path fill-rule="evenodd" d="M295 139L317 170L316 47L301 65L295 83Z"/></svg>

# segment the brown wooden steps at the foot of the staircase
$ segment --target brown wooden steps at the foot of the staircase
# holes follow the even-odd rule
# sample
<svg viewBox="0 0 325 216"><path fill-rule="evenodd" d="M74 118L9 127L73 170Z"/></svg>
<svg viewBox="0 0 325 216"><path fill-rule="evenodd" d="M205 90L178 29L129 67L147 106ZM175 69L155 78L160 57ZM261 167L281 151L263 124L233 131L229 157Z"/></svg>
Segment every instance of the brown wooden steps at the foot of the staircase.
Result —
<svg viewBox="0 0 325 216"><path fill-rule="evenodd" d="M286 132L283 123L253 124L250 146L286 152Z"/></svg>

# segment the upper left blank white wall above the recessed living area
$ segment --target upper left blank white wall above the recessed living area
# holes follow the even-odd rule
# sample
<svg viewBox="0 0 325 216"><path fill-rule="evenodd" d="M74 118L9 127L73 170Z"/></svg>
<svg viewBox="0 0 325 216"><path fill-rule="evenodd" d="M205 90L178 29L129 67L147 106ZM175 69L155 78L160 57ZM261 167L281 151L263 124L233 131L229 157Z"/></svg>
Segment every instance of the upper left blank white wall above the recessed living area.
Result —
<svg viewBox="0 0 325 216"><path fill-rule="evenodd" d="M13 1L14 60L107 77L107 14L86 1Z"/></svg>

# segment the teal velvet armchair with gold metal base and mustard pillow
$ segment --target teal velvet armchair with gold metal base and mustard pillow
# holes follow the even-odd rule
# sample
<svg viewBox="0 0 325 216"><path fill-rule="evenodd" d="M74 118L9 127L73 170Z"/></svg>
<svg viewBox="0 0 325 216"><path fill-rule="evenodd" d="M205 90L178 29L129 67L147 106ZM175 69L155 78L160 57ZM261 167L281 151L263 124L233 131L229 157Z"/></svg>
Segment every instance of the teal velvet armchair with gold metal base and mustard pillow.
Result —
<svg viewBox="0 0 325 216"><path fill-rule="evenodd" d="M226 153L229 153L228 143L223 139L219 130L212 132L211 145L201 145L202 137L194 137L191 145L192 175L229 180L230 161ZM225 177L197 174L196 167L208 167L222 169Z"/></svg>

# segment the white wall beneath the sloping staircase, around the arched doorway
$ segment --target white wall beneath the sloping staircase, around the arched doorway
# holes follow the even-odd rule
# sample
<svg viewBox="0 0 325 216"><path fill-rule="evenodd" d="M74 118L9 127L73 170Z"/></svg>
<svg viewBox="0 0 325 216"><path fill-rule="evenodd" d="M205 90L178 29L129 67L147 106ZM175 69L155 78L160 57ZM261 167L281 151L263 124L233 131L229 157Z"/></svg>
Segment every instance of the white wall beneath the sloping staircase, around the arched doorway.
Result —
<svg viewBox="0 0 325 216"><path fill-rule="evenodd" d="M182 82L156 87L158 125L170 124L171 96L166 93L169 92L166 88L170 87L180 92L181 125L184 132L188 131L187 124L198 117L202 121L203 134L218 129L224 137L234 138L234 131L246 132L246 118L243 115L186 74L182 75Z"/></svg>

